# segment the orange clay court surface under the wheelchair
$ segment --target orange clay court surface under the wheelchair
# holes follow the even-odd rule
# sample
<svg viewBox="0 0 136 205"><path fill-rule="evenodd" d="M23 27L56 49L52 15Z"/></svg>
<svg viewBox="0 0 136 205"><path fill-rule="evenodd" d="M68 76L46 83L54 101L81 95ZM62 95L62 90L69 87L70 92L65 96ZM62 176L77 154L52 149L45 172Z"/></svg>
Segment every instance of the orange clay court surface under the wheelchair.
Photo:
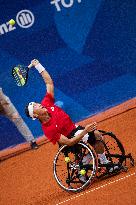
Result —
<svg viewBox="0 0 136 205"><path fill-rule="evenodd" d="M134 103L136 100L134 100ZM125 106L125 105L124 105ZM104 113L106 116L107 114ZM126 152L136 159L136 108L98 121L98 128L114 132ZM86 124L95 117L79 124ZM99 120L98 120L99 119ZM57 145L46 143L36 151L28 150L0 162L0 205L135 205L136 168L95 181L85 191L71 194L63 191L53 177L53 159Z"/></svg>

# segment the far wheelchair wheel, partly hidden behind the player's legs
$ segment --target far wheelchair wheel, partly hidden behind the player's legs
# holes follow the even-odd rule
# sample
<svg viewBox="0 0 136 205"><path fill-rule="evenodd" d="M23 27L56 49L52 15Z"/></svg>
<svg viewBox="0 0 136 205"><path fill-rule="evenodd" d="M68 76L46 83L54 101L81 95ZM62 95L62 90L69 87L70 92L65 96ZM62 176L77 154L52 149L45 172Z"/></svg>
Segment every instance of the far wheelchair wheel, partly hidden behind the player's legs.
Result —
<svg viewBox="0 0 136 205"><path fill-rule="evenodd" d="M99 131L103 136L107 159L114 164L122 165L125 160L125 149L120 140L112 132Z"/></svg>

